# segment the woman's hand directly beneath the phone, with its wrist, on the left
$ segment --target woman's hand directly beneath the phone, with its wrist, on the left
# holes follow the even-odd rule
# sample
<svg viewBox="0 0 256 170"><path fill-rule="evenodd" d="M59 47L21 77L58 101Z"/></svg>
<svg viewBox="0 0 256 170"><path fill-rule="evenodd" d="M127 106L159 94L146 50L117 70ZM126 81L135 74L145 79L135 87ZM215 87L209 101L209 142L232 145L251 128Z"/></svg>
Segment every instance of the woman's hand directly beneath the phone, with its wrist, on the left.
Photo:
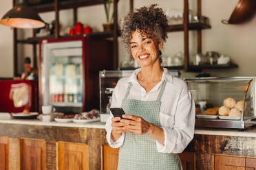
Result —
<svg viewBox="0 0 256 170"><path fill-rule="evenodd" d="M113 139L113 141L118 140L118 138L120 138L120 136L122 136L122 132L124 131L124 126L125 124L120 122L120 117L113 117L111 119L112 123L112 132L111 132L111 138Z"/></svg>

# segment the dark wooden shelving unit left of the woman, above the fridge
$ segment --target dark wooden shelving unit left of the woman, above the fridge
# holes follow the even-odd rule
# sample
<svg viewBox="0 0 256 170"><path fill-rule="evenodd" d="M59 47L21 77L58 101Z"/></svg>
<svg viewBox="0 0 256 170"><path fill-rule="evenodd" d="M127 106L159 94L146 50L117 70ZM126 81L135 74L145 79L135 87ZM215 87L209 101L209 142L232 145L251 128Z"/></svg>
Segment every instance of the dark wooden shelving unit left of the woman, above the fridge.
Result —
<svg viewBox="0 0 256 170"><path fill-rule="evenodd" d="M37 68L37 57L36 57L36 44L38 44L41 40L44 39L53 39L53 38L67 38L67 37L77 37L77 36L101 36L105 38L112 37L114 42L114 58L116 61L114 63L118 63L118 25L117 25L117 1L113 0L114 5L114 31L113 32L94 32L91 34L81 34L75 36L60 36L59 35L59 10L66 10L66 9L73 9L73 21L74 24L77 23L77 8L85 7L90 5L100 5L103 4L103 0L54 0L54 2L44 3L39 5L32 5L29 4L36 10L36 12L55 12L55 30L53 36L44 36L44 37L36 37L35 30L33 32L32 38L27 38L25 40L18 40L17 39L17 29L14 29L14 75L18 75L18 43L21 44L30 44L33 46L33 67ZM13 5L15 0L13 0Z"/></svg>

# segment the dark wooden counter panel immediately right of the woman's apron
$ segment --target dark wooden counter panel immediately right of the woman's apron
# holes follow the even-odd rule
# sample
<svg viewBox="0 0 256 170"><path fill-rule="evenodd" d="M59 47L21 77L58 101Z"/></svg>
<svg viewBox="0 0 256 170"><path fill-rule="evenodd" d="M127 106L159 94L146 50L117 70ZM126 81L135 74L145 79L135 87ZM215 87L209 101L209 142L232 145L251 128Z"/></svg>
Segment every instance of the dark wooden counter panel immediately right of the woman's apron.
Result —
<svg viewBox="0 0 256 170"><path fill-rule="evenodd" d="M183 170L195 169L195 153L184 152L179 154Z"/></svg>

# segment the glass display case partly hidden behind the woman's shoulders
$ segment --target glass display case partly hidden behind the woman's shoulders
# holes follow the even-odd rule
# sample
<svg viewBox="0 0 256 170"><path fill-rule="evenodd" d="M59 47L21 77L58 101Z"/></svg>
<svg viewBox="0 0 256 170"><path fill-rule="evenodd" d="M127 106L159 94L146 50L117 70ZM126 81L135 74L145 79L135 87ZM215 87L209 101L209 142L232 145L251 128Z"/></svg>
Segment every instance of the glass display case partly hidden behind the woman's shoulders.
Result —
<svg viewBox="0 0 256 170"><path fill-rule="evenodd" d="M122 77L128 77L134 70L122 71L100 71L100 121L106 121L110 113L111 96L118 80ZM179 77L180 72L169 70L169 73Z"/></svg>

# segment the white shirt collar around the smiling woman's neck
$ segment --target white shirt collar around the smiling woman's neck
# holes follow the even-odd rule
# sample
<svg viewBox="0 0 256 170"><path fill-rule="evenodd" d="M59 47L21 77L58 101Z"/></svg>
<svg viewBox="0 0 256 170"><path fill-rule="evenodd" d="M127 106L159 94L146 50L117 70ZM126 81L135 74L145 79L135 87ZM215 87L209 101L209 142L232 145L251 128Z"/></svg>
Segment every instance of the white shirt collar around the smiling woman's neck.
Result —
<svg viewBox="0 0 256 170"><path fill-rule="evenodd" d="M161 82L163 82L164 80L166 80L169 83L173 82L173 75L171 75L168 71L168 69L163 68L164 72L162 73L162 78L161 78ZM138 80L137 80L137 75L138 73L140 73L141 68L136 69L128 78L127 82L131 82L132 84L139 84Z"/></svg>

